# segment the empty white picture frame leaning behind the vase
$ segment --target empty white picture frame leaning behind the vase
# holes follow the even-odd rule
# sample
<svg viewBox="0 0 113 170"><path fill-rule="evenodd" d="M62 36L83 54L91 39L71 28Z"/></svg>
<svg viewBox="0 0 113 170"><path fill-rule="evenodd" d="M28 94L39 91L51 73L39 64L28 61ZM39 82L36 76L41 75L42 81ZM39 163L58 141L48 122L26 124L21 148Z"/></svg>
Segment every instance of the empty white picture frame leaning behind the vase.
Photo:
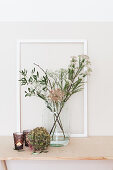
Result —
<svg viewBox="0 0 113 170"><path fill-rule="evenodd" d="M17 41L17 131L21 131L21 87L20 73L21 70L21 44L29 43L83 43L84 44L84 55L87 55L87 40L76 40L76 39L32 39L32 40L18 40ZM87 77L85 78L87 82ZM87 83L84 84L84 132L80 134L71 134L71 137L87 137L88 126L87 126Z"/></svg>

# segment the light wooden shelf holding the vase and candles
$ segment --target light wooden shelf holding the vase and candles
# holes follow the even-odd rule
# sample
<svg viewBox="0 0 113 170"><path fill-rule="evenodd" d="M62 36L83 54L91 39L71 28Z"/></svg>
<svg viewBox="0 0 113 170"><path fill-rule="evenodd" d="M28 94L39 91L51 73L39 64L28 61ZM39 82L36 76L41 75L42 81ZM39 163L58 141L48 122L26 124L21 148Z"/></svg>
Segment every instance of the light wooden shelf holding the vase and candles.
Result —
<svg viewBox="0 0 113 170"><path fill-rule="evenodd" d="M32 155L29 148L13 150L12 137L0 137L0 160L111 160L113 137L71 138L65 147L49 147L48 153Z"/></svg>

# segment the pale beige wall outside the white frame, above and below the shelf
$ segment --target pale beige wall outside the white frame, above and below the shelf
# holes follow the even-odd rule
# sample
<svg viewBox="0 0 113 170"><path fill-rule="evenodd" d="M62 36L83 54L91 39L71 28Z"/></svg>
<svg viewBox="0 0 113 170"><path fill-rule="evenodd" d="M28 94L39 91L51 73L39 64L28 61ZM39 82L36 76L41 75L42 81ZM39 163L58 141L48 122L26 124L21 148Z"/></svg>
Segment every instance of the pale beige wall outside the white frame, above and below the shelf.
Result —
<svg viewBox="0 0 113 170"><path fill-rule="evenodd" d="M113 135L113 23L0 23L0 135L16 131L16 40L87 39L93 72L88 80L89 135ZM66 165L66 166L64 166ZM18 166L18 168L17 168ZM112 170L112 161L8 161L10 169Z"/></svg>

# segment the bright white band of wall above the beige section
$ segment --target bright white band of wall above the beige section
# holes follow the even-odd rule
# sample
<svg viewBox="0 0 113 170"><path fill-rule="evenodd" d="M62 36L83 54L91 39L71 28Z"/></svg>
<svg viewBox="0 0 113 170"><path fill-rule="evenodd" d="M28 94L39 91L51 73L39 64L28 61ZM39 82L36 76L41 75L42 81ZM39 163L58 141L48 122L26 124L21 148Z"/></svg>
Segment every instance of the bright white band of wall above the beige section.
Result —
<svg viewBox="0 0 113 170"><path fill-rule="evenodd" d="M0 21L113 21L112 0L0 0Z"/></svg>

